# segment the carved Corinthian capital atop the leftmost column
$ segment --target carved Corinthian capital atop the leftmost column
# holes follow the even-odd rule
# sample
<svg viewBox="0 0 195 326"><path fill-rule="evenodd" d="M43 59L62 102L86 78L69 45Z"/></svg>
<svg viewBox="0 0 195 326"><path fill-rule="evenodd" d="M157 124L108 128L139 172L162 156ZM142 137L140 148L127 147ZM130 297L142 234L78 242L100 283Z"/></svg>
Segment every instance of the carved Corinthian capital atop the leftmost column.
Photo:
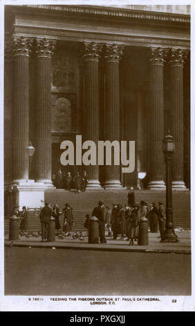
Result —
<svg viewBox="0 0 195 326"><path fill-rule="evenodd" d="M14 56L24 55L29 57L31 47L33 43L33 38L12 35L11 44L12 44L12 52Z"/></svg>

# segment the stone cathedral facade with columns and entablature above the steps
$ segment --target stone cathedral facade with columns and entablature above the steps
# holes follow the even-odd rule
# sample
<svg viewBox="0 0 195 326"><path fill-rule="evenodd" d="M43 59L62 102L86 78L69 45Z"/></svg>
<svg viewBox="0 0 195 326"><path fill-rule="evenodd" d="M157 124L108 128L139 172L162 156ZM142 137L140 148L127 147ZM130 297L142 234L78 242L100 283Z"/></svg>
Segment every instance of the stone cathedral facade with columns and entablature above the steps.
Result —
<svg viewBox="0 0 195 326"><path fill-rule="evenodd" d="M31 191L36 207L59 168L86 170L91 189L138 187L138 173L146 173L147 189L165 189L168 130L176 144L173 188L189 189L189 6L126 7L5 6L7 201L16 189L24 198ZM135 171L62 166L60 144L76 135L135 140Z"/></svg>

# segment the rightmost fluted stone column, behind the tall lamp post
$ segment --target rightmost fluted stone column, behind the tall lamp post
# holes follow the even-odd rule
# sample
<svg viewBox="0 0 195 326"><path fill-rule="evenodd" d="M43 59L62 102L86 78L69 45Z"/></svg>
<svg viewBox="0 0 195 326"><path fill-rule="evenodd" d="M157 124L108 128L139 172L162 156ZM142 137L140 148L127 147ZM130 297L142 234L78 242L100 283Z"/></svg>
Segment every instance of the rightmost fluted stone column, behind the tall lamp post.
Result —
<svg viewBox="0 0 195 326"><path fill-rule="evenodd" d="M170 87L172 130L175 152L173 155L172 188L184 189L183 182L183 65L187 58L187 50L171 49Z"/></svg>

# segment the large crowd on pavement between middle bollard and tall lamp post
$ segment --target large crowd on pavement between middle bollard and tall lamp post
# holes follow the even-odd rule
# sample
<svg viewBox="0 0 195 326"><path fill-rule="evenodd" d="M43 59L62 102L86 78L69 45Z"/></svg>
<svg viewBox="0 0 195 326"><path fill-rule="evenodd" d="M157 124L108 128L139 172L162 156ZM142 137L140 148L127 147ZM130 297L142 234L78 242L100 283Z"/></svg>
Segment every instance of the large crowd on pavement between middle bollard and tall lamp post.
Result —
<svg viewBox="0 0 195 326"><path fill-rule="evenodd" d="M163 203L158 203L157 209L155 203L147 205L145 201L141 200L139 203L113 204L113 208L104 207L104 202L100 200L98 206L93 209L92 216L98 218L100 242L106 243L105 228L108 228L108 236L117 239L127 237L129 245L133 245L134 241L138 241L139 225L141 218L147 218L149 221L150 232L158 232L162 237L165 232L165 208ZM89 228L89 214L86 215L84 223L85 228Z"/></svg>

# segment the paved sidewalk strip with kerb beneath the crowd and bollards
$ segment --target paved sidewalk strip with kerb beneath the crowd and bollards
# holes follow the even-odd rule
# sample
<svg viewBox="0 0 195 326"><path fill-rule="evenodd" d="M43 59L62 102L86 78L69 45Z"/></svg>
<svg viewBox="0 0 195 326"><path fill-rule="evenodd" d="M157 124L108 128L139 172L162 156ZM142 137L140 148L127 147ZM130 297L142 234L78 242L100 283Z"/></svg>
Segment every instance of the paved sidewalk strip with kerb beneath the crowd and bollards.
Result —
<svg viewBox="0 0 195 326"><path fill-rule="evenodd" d="M191 254L191 232L189 230L176 232L178 236L177 243L161 243L159 234L149 233L148 246L129 246L129 241L112 240L106 237L107 243L88 243L88 237L84 235L84 239L73 239L73 237L66 237L65 239L58 239L56 236L55 242L41 243L41 237L19 237L17 241L9 241L8 234L5 235L5 246L17 246L28 248L64 248L64 249L80 249L80 250L102 250L102 251L118 251L118 252L162 252L162 253L183 253Z"/></svg>

